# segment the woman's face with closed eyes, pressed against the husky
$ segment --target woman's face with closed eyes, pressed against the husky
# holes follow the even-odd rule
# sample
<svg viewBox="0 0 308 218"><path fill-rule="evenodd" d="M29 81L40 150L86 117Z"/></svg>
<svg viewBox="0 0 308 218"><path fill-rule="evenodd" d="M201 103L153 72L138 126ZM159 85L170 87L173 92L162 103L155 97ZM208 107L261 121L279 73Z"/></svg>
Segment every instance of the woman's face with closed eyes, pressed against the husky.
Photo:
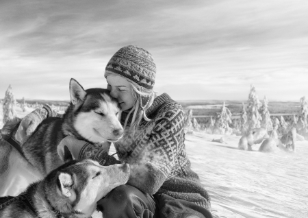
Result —
<svg viewBox="0 0 308 218"><path fill-rule="evenodd" d="M121 110L133 108L135 99L131 93L131 84L119 75L107 75L107 89L120 104Z"/></svg>

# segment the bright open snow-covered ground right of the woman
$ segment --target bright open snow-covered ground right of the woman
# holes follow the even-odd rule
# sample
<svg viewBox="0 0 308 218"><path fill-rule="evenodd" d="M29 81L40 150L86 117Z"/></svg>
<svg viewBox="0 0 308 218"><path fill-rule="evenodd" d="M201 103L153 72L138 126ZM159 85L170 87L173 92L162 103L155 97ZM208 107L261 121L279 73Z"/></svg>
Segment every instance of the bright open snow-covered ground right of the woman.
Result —
<svg viewBox="0 0 308 218"><path fill-rule="evenodd" d="M23 117L33 109L16 110ZM2 107L0 128L1 121ZM220 137L227 144L211 142ZM295 154L264 154L257 152L259 145L253 152L237 149L239 140L202 132L185 136L192 169L211 195L214 217L308 217L308 142L297 141Z"/></svg>

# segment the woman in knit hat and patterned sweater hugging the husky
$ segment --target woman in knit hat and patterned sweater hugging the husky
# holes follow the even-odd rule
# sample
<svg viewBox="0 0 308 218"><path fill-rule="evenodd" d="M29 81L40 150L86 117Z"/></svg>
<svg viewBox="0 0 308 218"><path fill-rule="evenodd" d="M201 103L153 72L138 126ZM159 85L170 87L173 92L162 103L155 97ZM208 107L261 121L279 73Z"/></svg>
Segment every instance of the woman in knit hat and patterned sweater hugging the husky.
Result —
<svg viewBox="0 0 308 218"><path fill-rule="evenodd" d="M92 158L101 165L131 165L129 182L98 202L104 218L211 217L210 197L185 152L183 110L166 93L155 95L155 73L151 53L133 45L118 50L105 68L107 89L123 110L125 135L114 143L119 160L71 136L59 146L66 145L75 158ZM25 130L29 134L49 116L58 114L48 107L28 114L19 138L25 140Z"/></svg>

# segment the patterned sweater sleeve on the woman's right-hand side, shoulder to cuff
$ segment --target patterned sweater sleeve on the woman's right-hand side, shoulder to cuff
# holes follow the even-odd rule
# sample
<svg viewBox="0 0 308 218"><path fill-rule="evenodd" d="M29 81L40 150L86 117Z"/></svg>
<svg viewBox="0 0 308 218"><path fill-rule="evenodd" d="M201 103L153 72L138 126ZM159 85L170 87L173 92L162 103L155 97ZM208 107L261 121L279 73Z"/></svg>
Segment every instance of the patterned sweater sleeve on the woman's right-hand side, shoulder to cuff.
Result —
<svg viewBox="0 0 308 218"><path fill-rule="evenodd" d="M167 104L155 117L155 125L147 142L144 159L131 166L129 184L154 194L171 175L183 141L183 110L179 104Z"/></svg>

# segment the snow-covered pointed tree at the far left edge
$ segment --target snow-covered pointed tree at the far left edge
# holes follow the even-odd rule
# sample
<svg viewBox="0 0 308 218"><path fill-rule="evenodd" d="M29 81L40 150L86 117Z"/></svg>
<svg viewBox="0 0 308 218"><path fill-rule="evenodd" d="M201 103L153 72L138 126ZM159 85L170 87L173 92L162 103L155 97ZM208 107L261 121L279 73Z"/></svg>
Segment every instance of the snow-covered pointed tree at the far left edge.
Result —
<svg viewBox="0 0 308 218"><path fill-rule="evenodd" d="M12 86L10 85L5 92L5 97L3 99L3 124L14 117L17 117L14 106L16 106L16 99L14 98Z"/></svg>

